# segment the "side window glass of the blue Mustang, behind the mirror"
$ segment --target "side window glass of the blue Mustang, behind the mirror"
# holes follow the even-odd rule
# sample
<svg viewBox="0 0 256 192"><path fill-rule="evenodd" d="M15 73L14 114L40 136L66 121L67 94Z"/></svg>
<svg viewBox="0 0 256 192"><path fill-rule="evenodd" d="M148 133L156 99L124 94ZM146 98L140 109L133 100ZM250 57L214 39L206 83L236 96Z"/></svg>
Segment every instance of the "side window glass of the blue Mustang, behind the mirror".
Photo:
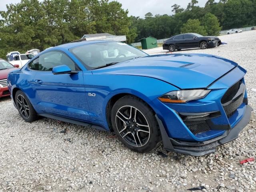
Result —
<svg viewBox="0 0 256 192"><path fill-rule="evenodd" d="M67 65L71 70L78 70L74 62L66 54L58 51L40 55L39 58L28 64L28 67L32 70L52 71L52 68L59 65Z"/></svg>

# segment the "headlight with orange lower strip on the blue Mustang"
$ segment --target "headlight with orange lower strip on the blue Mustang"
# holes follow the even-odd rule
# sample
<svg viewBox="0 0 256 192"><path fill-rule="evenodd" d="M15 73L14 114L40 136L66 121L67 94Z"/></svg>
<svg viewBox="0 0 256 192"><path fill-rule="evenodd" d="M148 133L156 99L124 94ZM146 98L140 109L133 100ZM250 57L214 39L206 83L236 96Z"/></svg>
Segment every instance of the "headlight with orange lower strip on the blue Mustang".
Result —
<svg viewBox="0 0 256 192"><path fill-rule="evenodd" d="M171 91L158 97L158 99L167 103L186 103L191 100L205 98L210 91L204 89Z"/></svg>

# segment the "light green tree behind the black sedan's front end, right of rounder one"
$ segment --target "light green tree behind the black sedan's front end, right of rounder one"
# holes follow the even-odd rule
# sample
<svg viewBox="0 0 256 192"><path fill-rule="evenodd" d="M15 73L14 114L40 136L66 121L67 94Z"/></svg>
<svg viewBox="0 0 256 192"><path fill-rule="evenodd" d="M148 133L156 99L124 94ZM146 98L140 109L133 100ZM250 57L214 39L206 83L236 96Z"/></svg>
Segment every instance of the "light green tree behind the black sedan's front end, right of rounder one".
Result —
<svg viewBox="0 0 256 192"><path fill-rule="evenodd" d="M206 30L206 33L210 36L218 36L220 34L220 23L218 18L211 13L207 13L202 19L202 25Z"/></svg>

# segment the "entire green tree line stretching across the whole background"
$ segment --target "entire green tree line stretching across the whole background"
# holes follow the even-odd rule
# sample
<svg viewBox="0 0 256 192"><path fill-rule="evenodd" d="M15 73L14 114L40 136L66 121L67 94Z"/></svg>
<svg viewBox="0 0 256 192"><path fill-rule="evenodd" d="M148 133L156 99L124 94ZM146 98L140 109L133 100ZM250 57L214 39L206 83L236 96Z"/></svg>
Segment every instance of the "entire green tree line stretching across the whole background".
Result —
<svg viewBox="0 0 256 192"><path fill-rule="evenodd" d="M81 38L84 34L126 35L127 43L153 36L168 38L181 32L218 35L220 30L256 25L256 0L208 0L199 7L170 5L170 15L150 12L145 18L128 16L122 4L108 0L21 0L0 11L0 58L7 52L44 50ZM171 13L174 14L171 14Z"/></svg>

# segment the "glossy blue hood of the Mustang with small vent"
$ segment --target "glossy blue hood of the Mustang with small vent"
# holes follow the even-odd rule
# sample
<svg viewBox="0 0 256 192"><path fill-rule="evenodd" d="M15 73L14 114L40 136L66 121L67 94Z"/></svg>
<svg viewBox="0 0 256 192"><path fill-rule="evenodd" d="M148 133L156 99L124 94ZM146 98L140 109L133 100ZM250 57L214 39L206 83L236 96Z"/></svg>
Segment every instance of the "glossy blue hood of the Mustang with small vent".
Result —
<svg viewBox="0 0 256 192"><path fill-rule="evenodd" d="M206 88L237 65L208 54L166 54L128 60L92 73L146 76L188 89Z"/></svg>

